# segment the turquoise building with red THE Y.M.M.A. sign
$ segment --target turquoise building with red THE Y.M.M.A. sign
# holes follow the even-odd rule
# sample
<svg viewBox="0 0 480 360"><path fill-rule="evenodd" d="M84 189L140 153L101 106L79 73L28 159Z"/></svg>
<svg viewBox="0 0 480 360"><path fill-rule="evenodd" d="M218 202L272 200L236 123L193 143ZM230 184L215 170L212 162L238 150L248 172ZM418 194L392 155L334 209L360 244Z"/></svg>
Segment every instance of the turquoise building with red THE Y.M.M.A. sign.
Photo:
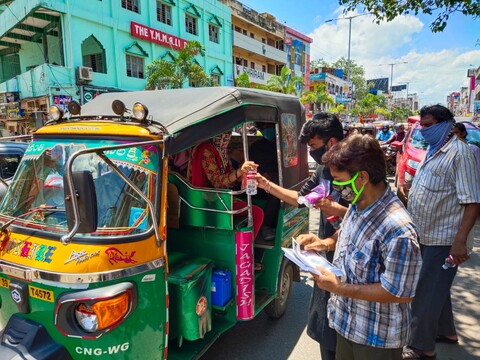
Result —
<svg viewBox="0 0 480 360"><path fill-rule="evenodd" d="M217 0L0 1L0 122L24 133L53 104L144 89L146 67L197 40L196 61L233 85L231 10ZM185 84L187 87L188 84Z"/></svg>

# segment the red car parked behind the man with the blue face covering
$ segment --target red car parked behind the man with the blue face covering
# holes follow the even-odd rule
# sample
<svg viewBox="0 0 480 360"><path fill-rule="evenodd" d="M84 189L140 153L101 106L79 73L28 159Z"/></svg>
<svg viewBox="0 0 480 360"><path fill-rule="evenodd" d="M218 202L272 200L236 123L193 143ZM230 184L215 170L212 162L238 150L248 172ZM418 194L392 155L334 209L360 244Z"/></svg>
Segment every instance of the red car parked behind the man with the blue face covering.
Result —
<svg viewBox="0 0 480 360"><path fill-rule="evenodd" d="M458 121L465 125L467 130L467 142L480 146L480 129L471 121ZM463 119L461 119L463 120ZM428 144L423 139L420 129L420 116L415 115L408 118L412 124L405 139L402 149L397 153L397 171L395 175L395 186L397 195L404 204L407 203L408 190L412 184L413 177L418 169L418 165L425 158Z"/></svg>

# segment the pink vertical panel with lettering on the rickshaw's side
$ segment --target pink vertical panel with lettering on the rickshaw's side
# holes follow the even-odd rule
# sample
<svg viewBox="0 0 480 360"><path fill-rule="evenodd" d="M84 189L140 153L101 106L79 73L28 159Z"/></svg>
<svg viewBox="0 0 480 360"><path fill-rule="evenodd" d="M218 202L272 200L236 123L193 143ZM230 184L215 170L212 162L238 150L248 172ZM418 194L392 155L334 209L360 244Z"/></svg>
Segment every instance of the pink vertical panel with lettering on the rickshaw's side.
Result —
<svg viewBox="0 0 480 360"><path fill-rule="evenodd" d="M237 288L237 320L249 320L255 315L253 238L252 232L235 233L235 263Z"/></svg>

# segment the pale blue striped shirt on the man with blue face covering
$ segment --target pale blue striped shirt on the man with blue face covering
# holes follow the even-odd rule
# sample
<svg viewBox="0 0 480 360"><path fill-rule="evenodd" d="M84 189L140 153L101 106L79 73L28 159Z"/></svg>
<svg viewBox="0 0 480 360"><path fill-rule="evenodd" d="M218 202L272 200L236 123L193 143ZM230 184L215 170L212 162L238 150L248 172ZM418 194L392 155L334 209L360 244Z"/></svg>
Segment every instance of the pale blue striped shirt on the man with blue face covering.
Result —
<svg viewBox="0 0 480 360"><path fill-rule="evenodd" d="M478 176L473 153L455 136L420 163L408 195L408 211L421 244L453 244L462 221L463 205L480 203ZM469 247L472 240L473 231Z"/></svg>

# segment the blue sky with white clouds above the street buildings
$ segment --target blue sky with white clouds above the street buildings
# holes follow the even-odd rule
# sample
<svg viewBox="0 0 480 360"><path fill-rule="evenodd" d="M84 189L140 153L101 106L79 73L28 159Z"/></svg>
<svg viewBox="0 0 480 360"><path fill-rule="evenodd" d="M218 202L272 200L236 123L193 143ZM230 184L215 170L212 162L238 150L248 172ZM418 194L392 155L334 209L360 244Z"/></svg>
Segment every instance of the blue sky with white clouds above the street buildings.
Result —
<svg viewBox="0 0 480 360"><path fill-rule="evenodd" d="M312 59L334 62L347 57L349 21L325 23L344 16L338 1L240 1L312 37ZM359 9L349 15L361 13ZM371 15L357 17L352 20L350 57L364 66L367 79L390 78L392 66L387 64L399 63L393 66L394 85L408 83L409 93L417 93L421 105L445 103L450 92L468 85L467 69L480 66L480 18L451 15L441 33L430 31L434 19L407 15L377 25Z"/></svg>

